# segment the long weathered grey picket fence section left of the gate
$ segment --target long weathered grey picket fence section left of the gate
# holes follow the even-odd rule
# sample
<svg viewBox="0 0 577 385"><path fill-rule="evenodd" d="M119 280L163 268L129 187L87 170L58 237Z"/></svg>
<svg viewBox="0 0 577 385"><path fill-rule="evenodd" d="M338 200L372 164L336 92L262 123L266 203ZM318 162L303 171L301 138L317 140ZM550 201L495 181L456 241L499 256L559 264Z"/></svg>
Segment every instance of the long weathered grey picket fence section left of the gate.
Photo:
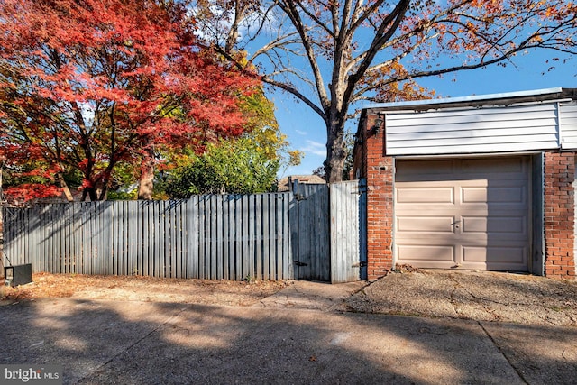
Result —
<svg viewBox="0 0 577 385"><path fill-rule="evenodd" d="M4 252L33 271L292 278L289 193L5 208Z"/></svg>

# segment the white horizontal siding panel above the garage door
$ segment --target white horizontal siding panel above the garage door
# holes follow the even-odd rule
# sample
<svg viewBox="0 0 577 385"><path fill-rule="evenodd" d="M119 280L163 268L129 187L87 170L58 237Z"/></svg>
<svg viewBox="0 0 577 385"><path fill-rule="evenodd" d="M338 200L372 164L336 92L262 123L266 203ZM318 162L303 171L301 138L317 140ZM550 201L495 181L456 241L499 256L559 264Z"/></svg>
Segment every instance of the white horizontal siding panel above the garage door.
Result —
<svg viewBox="0 0 577 385"><path fill-rule="evenodd" d="M388 113L385 120L388 155L559 148L557 103Z"/></svg>

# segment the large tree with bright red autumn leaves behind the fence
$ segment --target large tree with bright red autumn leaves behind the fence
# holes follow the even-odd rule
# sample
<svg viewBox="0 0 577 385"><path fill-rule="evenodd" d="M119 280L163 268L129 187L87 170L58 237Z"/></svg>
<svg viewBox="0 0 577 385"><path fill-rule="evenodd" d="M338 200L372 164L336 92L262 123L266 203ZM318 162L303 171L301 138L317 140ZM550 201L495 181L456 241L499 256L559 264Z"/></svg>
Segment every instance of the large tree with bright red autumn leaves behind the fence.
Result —
<svg viewBox="0 0 577 385"><path fill-rule="evenodd" d="M77 171L96 200L119 164L140 164L150 198L155 153L243 132L239 100L255 82L198 43L180 2L4 0L0 28L11 170L60 184Z"/></svg>

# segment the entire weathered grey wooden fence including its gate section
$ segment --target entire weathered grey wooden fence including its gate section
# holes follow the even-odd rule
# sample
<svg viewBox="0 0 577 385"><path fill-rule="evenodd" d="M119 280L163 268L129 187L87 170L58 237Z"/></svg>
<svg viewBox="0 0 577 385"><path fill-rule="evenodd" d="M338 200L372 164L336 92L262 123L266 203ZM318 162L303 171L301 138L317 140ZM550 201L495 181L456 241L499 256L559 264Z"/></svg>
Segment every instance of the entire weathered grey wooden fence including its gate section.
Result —
<svg viewBox="0 0 577 385"><path fill-rule="evenodd" d="M359 280L362 206L358 190L351 192L356 182L347 183L330 198L326 185L299 185L294 193L4 207L5 265L160 278Z"/></svg>

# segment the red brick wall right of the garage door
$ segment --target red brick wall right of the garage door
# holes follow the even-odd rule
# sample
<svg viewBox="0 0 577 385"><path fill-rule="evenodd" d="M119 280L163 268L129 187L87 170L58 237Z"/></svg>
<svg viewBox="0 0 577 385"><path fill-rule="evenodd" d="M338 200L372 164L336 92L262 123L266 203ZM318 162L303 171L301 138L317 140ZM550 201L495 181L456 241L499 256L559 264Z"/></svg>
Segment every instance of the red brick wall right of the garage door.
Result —
<svg viewBox="0 0 577 385"><path fill-rule="evenodd" d="M545 152L545 276L575 278L575 152Z"/></svg>

